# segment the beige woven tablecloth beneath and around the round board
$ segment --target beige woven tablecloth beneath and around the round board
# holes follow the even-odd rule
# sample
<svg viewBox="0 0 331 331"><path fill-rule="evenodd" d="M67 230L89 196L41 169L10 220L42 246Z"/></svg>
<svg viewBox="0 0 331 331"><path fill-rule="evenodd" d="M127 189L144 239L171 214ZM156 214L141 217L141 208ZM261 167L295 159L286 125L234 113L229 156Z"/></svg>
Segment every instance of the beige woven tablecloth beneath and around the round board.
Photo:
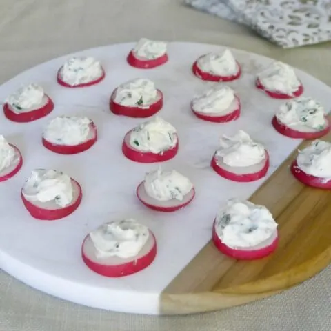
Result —
<svg viewBox="0 0 331 331"><path fill-rule="evenodd" d="M331 85L331 43L283 50L181 0L0 0L0 80L69 52L139 37L217 43L297 66ZM0 271L0 331L330 331L331 268L297 288L238 308L148 317L50 297Z"/></svg>

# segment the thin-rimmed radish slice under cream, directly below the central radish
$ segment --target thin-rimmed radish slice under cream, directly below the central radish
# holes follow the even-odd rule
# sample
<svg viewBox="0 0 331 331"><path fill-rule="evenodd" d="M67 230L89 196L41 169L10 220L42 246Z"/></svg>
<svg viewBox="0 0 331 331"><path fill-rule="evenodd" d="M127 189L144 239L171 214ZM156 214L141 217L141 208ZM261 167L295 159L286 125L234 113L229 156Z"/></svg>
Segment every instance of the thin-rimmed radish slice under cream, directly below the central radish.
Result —
<svg viewBox="0 0 331 331"><path fill-rule="evenodd" d="M192 188L188 194L185 194L182 201L179 201L177 199L171 199L168 201L159 201L157 199L154 199L150 197L146 190L144 181L139 184L137 188L137 197L138 199L146 205L146 207L157 210L158 212L174 212L176 210L179 210L181 208L184 208L186 205L188 205L194 198L195 190Z"/></svg>

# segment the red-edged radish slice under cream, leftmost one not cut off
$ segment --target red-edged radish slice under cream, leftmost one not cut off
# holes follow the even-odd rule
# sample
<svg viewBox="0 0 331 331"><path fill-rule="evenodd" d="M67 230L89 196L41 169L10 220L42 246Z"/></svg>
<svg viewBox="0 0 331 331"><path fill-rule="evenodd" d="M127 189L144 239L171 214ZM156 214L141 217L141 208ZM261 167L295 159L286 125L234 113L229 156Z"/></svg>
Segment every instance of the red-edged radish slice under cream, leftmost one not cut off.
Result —
<svg viewBox="0 0 331 331"><path fill-rule="evenodd" d="M50 99L50 97L48 97L48 95L46 94L43 97L43 102L41 103L41 107L37 109L31 108L31 110L29 110L28 112L21 112L17 114L16 112L14 112L10 104L5 103L3 105L3 113L5 114L5 116L8 119L10 119L10 121L18 122L18 123L27 123L27 122L35 121L37 119L41 119L41 117L45 117L48 114L50 114L50 112L52 112L53 109L54 109L54 103L52 99Z"/></svg>

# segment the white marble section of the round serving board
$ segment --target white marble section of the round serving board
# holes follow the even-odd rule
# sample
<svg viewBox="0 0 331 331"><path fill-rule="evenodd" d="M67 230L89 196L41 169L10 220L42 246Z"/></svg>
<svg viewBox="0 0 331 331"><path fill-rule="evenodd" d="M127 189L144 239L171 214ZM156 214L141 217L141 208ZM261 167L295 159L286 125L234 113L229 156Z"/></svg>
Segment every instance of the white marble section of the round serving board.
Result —
<svg viewBox="0 0 331 331"><path fill-rule="evenodd" d="M232 183L212 172L210 159L219 136L246 130L270 152L270 175L300 141L279 135L270 125L282 101L270 99L254 88L254 74L271 61L265 57L235 51L243 76L229 83L241 97L238 121L214 124L201 121L190 112L192 97L210 86L190 72L201 54L220 46L170 43L170 61L154 70L138 70L126 64L133 44L95 48L90 54L101 61L106 79L97 86L68 89L57 85L56 72L67 57L54 59L14 77L0 87L0 100L22 83L40 83L55 109L48 117L32 123L8 121L1 112L0 131L20 148L24 165L19 174L0 185L0 267L17 279L57 297L108 310L158 313L158 295L210 239L212 221L220 203L230 197L248 198L263 181ZM305 95L331 103L330 88L298 71ZM178 130L180 150L165 163L190 177L197 195L191 205L172 214L147 210L135 197L135 188L145 172L156 165L132 163L121 154L124 134L143 119L117 117L108 110L112 90L135 77L148 77L164 95L159 115ZM60 114L90 117L99 130L93 148L66 156L46 150L41 132L46 121ZM23 208L19 191L34 168L57 168L79 181L83 188L81 206L66 219L43 222L32 219ZM81 241L99 224L119 217L135 217L148 225L157 237L159 252L154 263L130 277L107 279L94 274L80 258Z"/></svg>

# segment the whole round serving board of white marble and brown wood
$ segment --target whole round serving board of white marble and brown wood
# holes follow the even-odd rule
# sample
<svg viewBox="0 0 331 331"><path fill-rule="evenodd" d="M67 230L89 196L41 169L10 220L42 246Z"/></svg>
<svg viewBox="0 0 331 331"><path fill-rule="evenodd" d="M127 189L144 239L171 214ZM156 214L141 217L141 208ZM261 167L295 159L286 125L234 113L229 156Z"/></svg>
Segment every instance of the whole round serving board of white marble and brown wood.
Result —
<svg viewBox="0 0 331 331"><path fill-rule="evenodd" d="M22 84L39 83L55 104L48 117L32 123L13 123L0 114L0 134L21 150L24 160L15 177L0 183L0 267L33 288L83 305L144 314L185 314L268 297L328 265L330 193L307 188L292 177L288 165L301 141L283 137L272 128L273 114L283 101L270 99L254 87L255 75L272 60L233 50L243 75L228 85L241 99L242 114L232 123L215 124L197 119L190 111L192 97L213 84L194 77L191 66L201 54L223 47L170 43L168 63L139 70L126 63L132 46L126 43L77 53L91 55L103 64L106 79L96 86L59 86L57 70L66 56L23 72L0 87L4 101ZM300 70L297 74L305 87L304 95L318 99L329 110L331 89ZM118 117L108 110L108 101L120 83L137 77L156 83L164 95L159 116L177 128L179 154L162 167L179 170L196 188L194 201L178 212L152 212L139 203L137 185L157 165L134 163L121 154L126 132L146 119ZM97 143L71 156L43 148L43 127L61 114L92 119L98 128ZM233 183L211 170L210 159L221 134L234 134L239 129L268 149L268 180ZM330 141L331 136L326 139ZM20 190L34 168L63 170L79 181L83 200L74 214L59 221L30 217ZM274 214L280 241L272 256L236 261L210 243L215 214L232 197L250 198ZM101 223L123 217L134 217L154 232L157 258L146 270L128 277L108 279L94 274L81 260L81 242Z"/></svg>

